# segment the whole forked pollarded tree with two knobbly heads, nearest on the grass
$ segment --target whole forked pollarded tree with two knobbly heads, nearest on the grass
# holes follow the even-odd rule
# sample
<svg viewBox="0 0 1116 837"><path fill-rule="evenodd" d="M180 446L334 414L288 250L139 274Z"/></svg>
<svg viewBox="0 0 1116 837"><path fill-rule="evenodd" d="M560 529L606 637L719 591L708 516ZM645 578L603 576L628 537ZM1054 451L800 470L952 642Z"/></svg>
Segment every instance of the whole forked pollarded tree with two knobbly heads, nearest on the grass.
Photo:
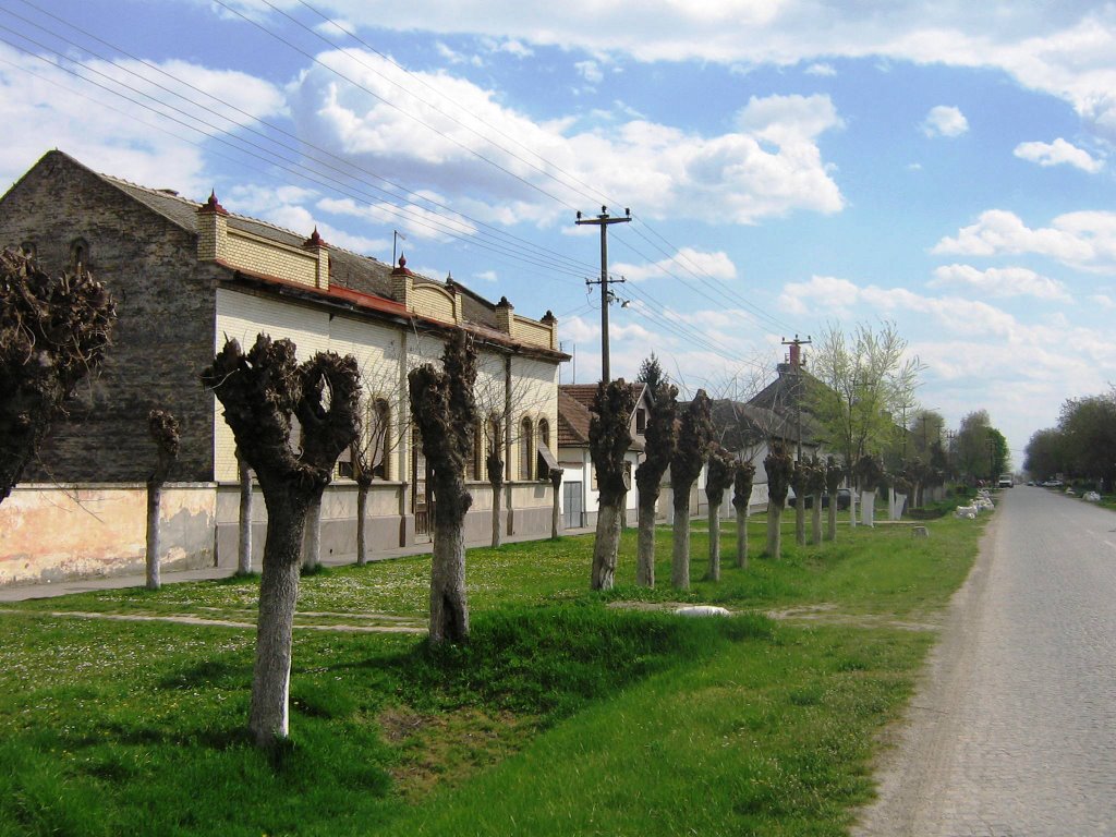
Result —
<svg viewBox="0 0 1116 837"><path fill-rule="evenodd" d="M320 501L337 458L359 431L359 374L331 352L299 364L295 344L259 335L246 355L228 340L201 374L224 407L268 510L256 666L248 725L269 747L289 732L291 636L307 510ZM292 419L301 426L291 444Z"/></svg>

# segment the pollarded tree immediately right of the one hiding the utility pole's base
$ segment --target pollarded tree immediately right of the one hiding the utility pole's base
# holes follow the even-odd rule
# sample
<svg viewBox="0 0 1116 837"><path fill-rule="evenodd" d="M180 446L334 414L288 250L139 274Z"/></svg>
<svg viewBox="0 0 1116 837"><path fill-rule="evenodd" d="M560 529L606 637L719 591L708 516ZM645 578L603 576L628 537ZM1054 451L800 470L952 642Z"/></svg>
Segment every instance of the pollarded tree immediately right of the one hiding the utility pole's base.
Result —
<svg viewBox="0 0 1116 837"><path fill-rule="evenodd" d="M651 362L654 360L654 365ZM671 458L679 443L676 424L679 388L666 381L652 355L639 371L639 379L647 385L651 410L644 431L644 460L635 470L639 488L639 522L636 543L636 584L655 586L655 506L663 483L663 474L671 466Z"/></svg>

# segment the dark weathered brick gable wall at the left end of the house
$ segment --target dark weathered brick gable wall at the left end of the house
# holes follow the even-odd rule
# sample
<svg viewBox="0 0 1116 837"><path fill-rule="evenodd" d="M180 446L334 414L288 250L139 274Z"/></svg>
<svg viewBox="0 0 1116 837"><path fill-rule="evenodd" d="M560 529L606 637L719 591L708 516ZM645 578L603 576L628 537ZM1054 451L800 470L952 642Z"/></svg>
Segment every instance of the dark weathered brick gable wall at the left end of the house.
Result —
<svg viewBox="0 0 1116 837"><path fill-rule="evenodd" d="M100 375L79 385L28 468L27 482L136 482L155 462L147 412L182 426L172 481L212 479L213 397L199 372L213 358L214 287L196 241L61 154L48 154L0 199L0 246L31 242L49 272L88 244L88 268L116 299L118 320Z"/></svg>

